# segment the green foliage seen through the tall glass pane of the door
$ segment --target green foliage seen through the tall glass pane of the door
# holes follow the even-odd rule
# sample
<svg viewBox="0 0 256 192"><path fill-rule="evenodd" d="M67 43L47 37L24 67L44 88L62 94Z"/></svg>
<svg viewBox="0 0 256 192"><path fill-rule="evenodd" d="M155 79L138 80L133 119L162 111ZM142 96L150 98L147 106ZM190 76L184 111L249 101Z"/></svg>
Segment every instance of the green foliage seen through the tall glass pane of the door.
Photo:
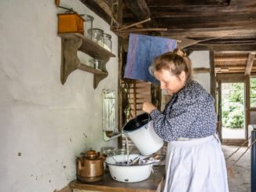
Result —
<svg viewBox="0 0 256 192"><path fill-rule="evenodd" d="M243 84L222 84L222 124L226 128L244 127Z"/></svg>

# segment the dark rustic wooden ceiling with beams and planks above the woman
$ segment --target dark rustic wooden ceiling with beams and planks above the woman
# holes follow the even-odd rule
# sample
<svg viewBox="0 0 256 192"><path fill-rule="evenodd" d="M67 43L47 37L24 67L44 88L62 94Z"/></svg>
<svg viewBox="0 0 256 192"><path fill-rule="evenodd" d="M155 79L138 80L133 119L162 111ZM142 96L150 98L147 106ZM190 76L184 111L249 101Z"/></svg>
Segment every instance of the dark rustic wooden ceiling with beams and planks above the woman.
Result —
<svg viewBox="0 0 256 192"><path fill-rule="evenodd" d="M80 0L110 24L111 17L95 1ZM110 0L109 0L110 1ZM251 0L119 0L123 41L130 32L180 40L186 52L214 52L215 73L256 72L256 2ZM162 29L146 31L144 29ZM163 31L166 29L166 31ZM112 28L113 31L113 28ZM115 32L115 31L114 31ZM123 42L122 41L122 42ZM127 42L126 42L127 44ZM250 54L249 54L250 53ZM254 56L254 59L251 57ZM251 68L251 72L250 72Z"/></svg>

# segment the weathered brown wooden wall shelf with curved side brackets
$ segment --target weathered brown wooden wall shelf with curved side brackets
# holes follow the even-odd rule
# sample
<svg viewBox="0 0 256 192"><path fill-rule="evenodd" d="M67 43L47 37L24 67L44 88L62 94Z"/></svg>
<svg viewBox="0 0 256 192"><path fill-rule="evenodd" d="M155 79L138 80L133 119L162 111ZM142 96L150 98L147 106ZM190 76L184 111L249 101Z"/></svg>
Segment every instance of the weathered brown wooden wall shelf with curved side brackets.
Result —
<svg viewBox="0 0 256 192"><path fill-rule="evenodd" d="M97 43L92 42L90 39L85 38L82 34L66 33L58 35L61 38L62 45L60 82L64 85L68 75L76 69L80 69L93 74L93 88L96 89L99 82L108 76L106 63L108 63L110 57L115 57L115 55L100 45L97 45ZM102 71L80 63L77 57L78 51L86 53L93 58L104 60Z"/></svg>

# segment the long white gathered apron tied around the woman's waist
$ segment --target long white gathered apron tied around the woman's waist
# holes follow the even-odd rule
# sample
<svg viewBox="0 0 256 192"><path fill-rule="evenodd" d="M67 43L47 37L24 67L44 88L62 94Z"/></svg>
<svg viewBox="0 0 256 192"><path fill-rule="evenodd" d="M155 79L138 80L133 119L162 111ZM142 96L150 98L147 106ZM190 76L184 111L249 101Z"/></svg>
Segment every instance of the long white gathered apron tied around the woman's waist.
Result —
<svg viewBox="0 0 256 192"><path fill-rule="evenodd" d="M217 136L168 143L164 192L229 192Z"/></svg>

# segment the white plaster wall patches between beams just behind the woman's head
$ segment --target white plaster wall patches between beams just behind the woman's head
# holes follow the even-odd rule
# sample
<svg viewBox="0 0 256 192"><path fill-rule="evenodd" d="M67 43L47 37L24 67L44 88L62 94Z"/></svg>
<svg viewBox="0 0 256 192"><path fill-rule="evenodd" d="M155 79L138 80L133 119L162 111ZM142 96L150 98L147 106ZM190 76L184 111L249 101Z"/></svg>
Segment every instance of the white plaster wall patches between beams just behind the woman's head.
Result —
<svg viewBox="0 0 256 192"><path fill-rule="evenodd" d="M206 67L210 68L209 51L195 51L189 56L192 60L192 68ZM199 82L207 92L210 92L210 73L194 73L192 78Z"/></svg>

